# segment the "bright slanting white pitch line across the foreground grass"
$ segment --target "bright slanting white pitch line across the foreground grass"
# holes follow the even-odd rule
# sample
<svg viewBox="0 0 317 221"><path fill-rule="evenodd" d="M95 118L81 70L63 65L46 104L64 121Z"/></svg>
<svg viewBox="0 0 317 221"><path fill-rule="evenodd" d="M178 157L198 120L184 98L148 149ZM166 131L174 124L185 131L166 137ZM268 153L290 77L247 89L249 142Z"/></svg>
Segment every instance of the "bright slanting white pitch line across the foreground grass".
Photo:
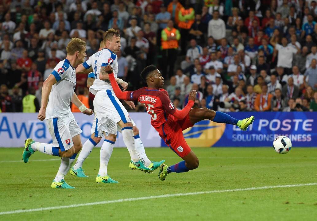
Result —
<svg viewBox="0 0 317 221"><path fill-rule="evenodd" d="M103 205L103 204L112 204L112 203L122 203L122 202L131 202L131 201L146 200L146 199L158 199L158 198L169 198L169 197L179 197L179 196L193 196L193 195L210 194L210 193L237 192L237 191L249 191L249 190L265 190L265 189L286 188L286 187L314 186L314 185L317 185L317 183L260 186L260 187L228 189L228 190L212 190L212 191L204 191L204 192L165 194L165 195L149 196L149 197L113 199L113 200L93 202L93 203L82 203L82 204L72 204L72 205L64 205L64 206L42 207L42 208L28 209L28 210L5 211L5 212L0 212L0 215L16 214L16 213L24 213L24 212L39 212L39 211L57 210L57 209L68 209L68 208L76 208L76 207L81 207L81 206L93 206L93 205Z"/></svg>

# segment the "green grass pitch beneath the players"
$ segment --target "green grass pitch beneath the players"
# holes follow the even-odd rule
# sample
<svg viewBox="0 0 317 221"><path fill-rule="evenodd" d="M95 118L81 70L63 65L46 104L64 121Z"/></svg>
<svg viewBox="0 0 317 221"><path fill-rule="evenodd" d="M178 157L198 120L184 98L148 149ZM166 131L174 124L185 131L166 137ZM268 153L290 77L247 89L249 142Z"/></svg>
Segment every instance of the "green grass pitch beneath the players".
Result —
<svg viewBox="0 0 317 221"><path fill-rule="evenodd" d="M65 177L75 190L52 189L60 160L36 152L22 162L22 148L0 148L0 212L72 205L162 194L316 183L317 150L293 148L287 155L273 148L193 148L200 165L171 173L165 181L131 171L126 148L116 148L108 174L119 184L96 184L99 148L83 168L89 178ZM147 148L152 160L180 161L169 148ZM51 161L33 161L50 159ZM21 162L5 162L21 160ZM77 208L0 215L0 220L316 220L316 185L118 202Z"/></svg>

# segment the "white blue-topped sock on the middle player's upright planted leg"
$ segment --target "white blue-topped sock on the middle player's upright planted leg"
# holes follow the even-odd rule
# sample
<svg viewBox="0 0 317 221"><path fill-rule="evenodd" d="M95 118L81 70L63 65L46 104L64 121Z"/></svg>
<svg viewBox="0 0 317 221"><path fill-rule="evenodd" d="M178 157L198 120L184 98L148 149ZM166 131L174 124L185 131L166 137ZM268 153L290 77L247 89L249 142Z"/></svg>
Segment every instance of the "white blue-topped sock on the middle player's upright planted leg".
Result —
<svg viewBox="0 0 317 221"><path fill-rule="evenodd" d="M100 176L108 175L107 167L109 159L113 151L114 142L110 140L105 140L100 149L100 167L98 174Z"/></svg>

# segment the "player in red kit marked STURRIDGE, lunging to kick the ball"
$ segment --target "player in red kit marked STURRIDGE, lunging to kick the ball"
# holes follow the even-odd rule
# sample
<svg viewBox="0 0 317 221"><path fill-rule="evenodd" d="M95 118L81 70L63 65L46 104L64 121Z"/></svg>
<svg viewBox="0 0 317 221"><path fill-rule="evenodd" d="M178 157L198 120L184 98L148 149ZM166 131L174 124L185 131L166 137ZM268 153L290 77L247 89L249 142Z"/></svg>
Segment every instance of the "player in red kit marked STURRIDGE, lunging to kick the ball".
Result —
<svg viewBox="0 0 317 221"><path fill-rule="evenodd" d="M184 139L183 130L186 128L192 127L198 121L208 119L217 123L234 124L240 129L246 130L254 121L254 116L244 120L236 120L220 111L208 108L192 108L197 94L195 90L190 91L186 107L180 111L177 110L167 92L162 89L164 79L154 65L147 66L141 73L147 87L135 91L122 92L120 90L110 65L100 70L100 73L100 80L110 79L113 91L119 99L139 101L145 105L147 113L151 115L152 126L159 132L165 144L184 160L172 166L161 165L159 172L161 180L165 180L165 177L171 172L187 172L196 169L199 165L197 156Z"/></svg>

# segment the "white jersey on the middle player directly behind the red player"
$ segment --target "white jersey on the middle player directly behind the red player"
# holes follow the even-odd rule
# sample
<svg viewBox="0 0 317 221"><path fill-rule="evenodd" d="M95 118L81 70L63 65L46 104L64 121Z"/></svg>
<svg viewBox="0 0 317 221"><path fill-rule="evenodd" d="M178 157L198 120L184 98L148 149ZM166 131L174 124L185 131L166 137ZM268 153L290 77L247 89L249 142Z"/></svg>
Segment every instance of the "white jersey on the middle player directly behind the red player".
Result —
<svg viewBox="0 0 317 221"><path fill-rule="evenodd" d="M118 57L109 49L102 49L101 51L96 52L91 55L89 59L83 63L84 68L88 69L93 68L95 78L94 84L90 86L89 91L92 94L96 94L100 90L112 90L110 81L102 81L99 79L100 68L102 66L111 65L113 68L114 77L118 76Z"/></svg>

